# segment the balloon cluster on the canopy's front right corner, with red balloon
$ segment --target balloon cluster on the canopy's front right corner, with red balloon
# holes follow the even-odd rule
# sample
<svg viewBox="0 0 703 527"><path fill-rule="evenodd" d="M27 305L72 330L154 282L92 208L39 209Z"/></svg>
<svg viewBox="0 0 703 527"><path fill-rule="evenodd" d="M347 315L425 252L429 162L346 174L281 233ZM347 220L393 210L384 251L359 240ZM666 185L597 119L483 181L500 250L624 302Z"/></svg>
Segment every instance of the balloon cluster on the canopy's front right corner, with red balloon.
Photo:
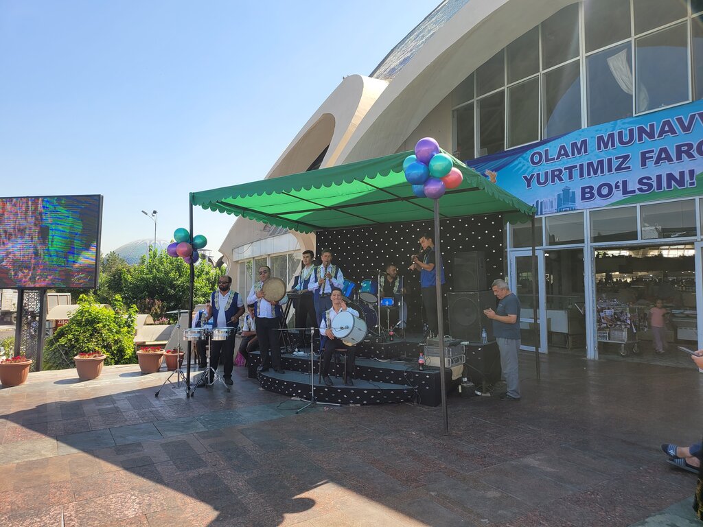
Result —
<svg viewBox="0 0 703 527"><path fill-rule="evenodd" d="M453 166L451 157L439 152L439 143L431 137L418 141L415 155L405 158L403 170L408 183L413 186L413 194L432 200L439 200L446 189L460 186L464 178Z"/></svg>

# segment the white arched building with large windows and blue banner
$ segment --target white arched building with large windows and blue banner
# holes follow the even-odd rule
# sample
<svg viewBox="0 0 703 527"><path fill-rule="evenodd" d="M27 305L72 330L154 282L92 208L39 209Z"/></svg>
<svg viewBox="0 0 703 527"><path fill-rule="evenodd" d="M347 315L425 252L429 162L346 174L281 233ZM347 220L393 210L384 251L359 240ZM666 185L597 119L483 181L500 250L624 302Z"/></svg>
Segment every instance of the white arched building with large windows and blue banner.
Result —
<svg viewBox="0 0 703 527"><path fill-rule="evenodd" d="M345 78L266 177L432 136L537 209L536 276L529 228L505 227L527 349L639 351L657 298L669 343L697 348L702 21L703 0L444 1L370 76ZM314 245L238 219L220 251L245 292L259 263L290 277Z"/></svg>

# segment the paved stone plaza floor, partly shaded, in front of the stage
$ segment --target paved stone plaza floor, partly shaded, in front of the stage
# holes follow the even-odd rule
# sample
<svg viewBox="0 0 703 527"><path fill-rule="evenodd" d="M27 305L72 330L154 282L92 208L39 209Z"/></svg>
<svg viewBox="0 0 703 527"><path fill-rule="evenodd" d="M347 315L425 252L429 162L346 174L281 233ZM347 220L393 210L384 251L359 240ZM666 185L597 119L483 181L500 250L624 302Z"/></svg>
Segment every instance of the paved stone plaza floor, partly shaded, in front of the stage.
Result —
<svg viewBox="0 0 703 527"><path fill-rule="evenodd" d="M521 357L519 402L317 408L166 373L30 374L0 390L1 526L695 526L695 367Z"/></svg>

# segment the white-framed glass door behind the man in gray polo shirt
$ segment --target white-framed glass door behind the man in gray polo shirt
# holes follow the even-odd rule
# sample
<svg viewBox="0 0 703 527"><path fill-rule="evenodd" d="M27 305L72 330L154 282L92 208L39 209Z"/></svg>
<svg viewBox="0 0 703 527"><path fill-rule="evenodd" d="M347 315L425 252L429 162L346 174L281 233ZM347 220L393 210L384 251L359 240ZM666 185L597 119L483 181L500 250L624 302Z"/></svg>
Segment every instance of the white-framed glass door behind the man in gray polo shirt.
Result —
<svg viewBox="0 0 703 527"><path fill-rule="evenodd" d="M517 294L522 307L520 313L522 349L534 351L535 347L537 347L539 351L546 353L547 327L540 323L540 320L546 319L546 311L544 309L544 251L538 250L536 258L537 275L534 276L531 249L510 252L508 285L510 285L510 290ZM537 320L534 318L535 301ZM537 341L535 341L535 328L537 329Z"/></svg>

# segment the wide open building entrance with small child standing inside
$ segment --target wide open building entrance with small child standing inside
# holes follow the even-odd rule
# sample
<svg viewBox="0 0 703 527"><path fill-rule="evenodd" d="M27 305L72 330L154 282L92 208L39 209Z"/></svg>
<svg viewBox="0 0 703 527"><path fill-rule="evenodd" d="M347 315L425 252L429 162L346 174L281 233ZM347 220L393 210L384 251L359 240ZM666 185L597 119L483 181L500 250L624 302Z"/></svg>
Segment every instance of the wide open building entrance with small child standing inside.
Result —
<svg viewBox="0 0 703 527"><path fill-rule="evenodd" d="M599 356L688 364L676 346L697 347L694 246L608 247L594 261Z"/></svg>

